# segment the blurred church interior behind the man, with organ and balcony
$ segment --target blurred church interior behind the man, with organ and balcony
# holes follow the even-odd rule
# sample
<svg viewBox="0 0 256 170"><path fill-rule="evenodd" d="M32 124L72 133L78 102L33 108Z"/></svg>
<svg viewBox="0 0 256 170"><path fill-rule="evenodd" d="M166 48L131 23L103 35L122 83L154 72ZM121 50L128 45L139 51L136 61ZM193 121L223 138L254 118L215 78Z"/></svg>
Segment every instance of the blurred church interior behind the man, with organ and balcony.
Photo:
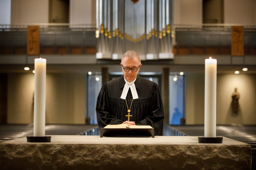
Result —
<svg viewBox="0 0 256 170"><path fill-rule="evenodd" d="M163 134L203 136L211 57L216 135L250 144L256 169L255 0L1 0L0 13L0 143L33 134L36 58L45 134L100 135L97 96L127 50L161 90Z"/></svg>

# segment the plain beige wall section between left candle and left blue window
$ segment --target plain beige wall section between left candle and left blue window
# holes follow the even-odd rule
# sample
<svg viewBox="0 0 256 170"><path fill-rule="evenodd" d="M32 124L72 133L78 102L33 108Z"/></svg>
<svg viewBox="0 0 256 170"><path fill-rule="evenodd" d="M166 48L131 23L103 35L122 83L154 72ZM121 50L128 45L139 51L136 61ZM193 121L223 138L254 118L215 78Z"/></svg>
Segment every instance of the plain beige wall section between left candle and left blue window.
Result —
<svg viewBox="0 0 256 170"><path fill-rule="evenodd" d="M85 123L85 75L48 74L46 123Z"/></svg>

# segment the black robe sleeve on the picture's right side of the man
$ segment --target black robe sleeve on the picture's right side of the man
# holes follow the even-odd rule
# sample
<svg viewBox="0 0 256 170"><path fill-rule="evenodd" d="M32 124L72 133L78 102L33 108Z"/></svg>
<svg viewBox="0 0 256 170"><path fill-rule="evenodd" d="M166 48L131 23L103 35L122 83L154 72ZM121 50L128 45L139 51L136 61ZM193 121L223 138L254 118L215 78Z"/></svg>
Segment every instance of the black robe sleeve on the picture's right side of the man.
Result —
<svg viewBox="0 0 256 170"><path fill-rule="evenodd" d="M146 118L137 122L136 125L150 125L155 130L155 135L163 135L164 109L163 101L156 83L152 87L151 111Z"/></svg>

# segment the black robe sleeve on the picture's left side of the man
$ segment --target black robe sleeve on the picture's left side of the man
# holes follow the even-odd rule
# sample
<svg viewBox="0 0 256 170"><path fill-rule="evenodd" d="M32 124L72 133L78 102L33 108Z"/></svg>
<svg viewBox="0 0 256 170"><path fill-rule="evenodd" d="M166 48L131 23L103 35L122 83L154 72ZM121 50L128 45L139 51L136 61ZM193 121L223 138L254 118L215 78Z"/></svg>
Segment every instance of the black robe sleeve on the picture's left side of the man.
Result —
<svg viewBox="0 0 256 170"><path fill-rule="evenodd" d="M104 83L97 97L96 116L99 128L104 128L108 124L122 124L123 121L117 119L113 113L109 112L110 102L107 95L107 83Z"/></svg>

